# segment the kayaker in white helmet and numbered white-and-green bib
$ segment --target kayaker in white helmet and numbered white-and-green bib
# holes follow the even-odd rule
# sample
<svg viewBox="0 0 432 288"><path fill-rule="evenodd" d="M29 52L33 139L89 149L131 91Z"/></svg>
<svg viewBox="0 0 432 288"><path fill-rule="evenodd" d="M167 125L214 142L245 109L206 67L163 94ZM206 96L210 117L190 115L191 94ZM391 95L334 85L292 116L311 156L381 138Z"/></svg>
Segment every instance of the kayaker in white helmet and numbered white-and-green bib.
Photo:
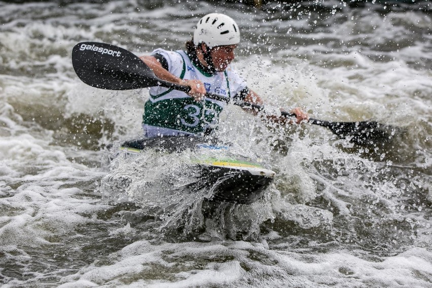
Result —
<svg viewBox="0 0 432 288"><path fill-rule="evenodd" d="M185 51L159 48L151 56L140 57L160 79L191 87L189 93L150 88L142 122L146 137L209 134L217 128L226 103L205 98L206 92L263 105L260 96L229 65L239 42L237 23L227 15L210 13L198 21ZM292 113L297 123L308 119L299 108ZM291 121L268 118L281 124Z"/></svg>

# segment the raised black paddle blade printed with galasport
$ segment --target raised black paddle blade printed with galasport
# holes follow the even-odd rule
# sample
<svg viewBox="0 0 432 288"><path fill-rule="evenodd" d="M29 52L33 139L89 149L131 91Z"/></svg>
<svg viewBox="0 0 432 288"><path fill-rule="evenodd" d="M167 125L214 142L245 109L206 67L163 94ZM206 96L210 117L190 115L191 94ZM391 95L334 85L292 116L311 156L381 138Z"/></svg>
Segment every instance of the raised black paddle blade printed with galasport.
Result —
<svg viewBox="0 0 432 288"><path fill-rule="evenodd" d="M72 64L86 84L109 90L158 85L153 71L133 53L105 43L81 42L72 50Z"/></svg>

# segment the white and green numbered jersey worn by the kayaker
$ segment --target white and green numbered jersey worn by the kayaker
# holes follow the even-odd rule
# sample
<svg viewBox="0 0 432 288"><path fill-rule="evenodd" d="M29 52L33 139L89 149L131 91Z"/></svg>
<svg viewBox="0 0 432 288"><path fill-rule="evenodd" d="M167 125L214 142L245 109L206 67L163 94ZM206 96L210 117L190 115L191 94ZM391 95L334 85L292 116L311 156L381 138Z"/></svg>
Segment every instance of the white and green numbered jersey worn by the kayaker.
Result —
<svg viewBox="0 0 432 288"><path fill-rule="evenodd" d="M185 51L157 49L152 54L160 54L166 59L171 74L181 79L202 81L209 93L232 98L246 87L245 81L230 67L215 75L207 74L193 64ZM201 134L217 127L225 105L223 101L208 98L197 102L185 92L151 87L150 99L145 103L142 115L143 129L148 137L156 136L156 132L164 135Z"/></svg>

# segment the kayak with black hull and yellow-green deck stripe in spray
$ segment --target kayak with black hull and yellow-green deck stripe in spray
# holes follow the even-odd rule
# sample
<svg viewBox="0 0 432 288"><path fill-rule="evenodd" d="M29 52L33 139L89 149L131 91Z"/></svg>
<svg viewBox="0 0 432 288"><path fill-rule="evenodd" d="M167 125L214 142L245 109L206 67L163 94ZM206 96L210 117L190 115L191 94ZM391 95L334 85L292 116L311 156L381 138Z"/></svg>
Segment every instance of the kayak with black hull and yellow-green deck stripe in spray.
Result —
<svg viewBox="0 0 432 288"><path fill-rule="evenodd" d="M148 149L160 153L181 153L186 149L193 151L188 164L198 168L200 173L190 188L192 191L203 188L211 190L210 201L240 204L257 201L263 197L276 174L246 157L234 157L229 153L229 146L203 141L198 137L158 137L126 141L121 145L118 157L138 156Z"/></svg>

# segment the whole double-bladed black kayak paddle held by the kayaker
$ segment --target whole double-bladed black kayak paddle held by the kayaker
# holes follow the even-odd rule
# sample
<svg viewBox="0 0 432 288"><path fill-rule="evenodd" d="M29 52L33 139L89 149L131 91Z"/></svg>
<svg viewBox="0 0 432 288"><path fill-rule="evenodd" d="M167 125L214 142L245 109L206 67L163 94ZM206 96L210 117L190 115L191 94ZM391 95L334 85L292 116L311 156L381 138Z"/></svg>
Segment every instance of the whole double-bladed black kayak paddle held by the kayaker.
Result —
<svg viewBox="0 0 432 288"><path fill-rule="evenodd" d="M153 70L139 57L123 48L97 42L81 42L72 51L72 64L78 77L86 84L107 90L130 90L162 86L175 90L189 92L190 87L159 79ZM205 97L229 102L230 99L212 93ZM242 107L262 110L263 106L237 102ZM295 114L282 111L286 117L296 117ZM310 118L308 123L329 128L340 138L347 138L360 145L374 145L375 141L385 141L391 138L387 131L389 126L375 121L331 122Z"/></svg>

